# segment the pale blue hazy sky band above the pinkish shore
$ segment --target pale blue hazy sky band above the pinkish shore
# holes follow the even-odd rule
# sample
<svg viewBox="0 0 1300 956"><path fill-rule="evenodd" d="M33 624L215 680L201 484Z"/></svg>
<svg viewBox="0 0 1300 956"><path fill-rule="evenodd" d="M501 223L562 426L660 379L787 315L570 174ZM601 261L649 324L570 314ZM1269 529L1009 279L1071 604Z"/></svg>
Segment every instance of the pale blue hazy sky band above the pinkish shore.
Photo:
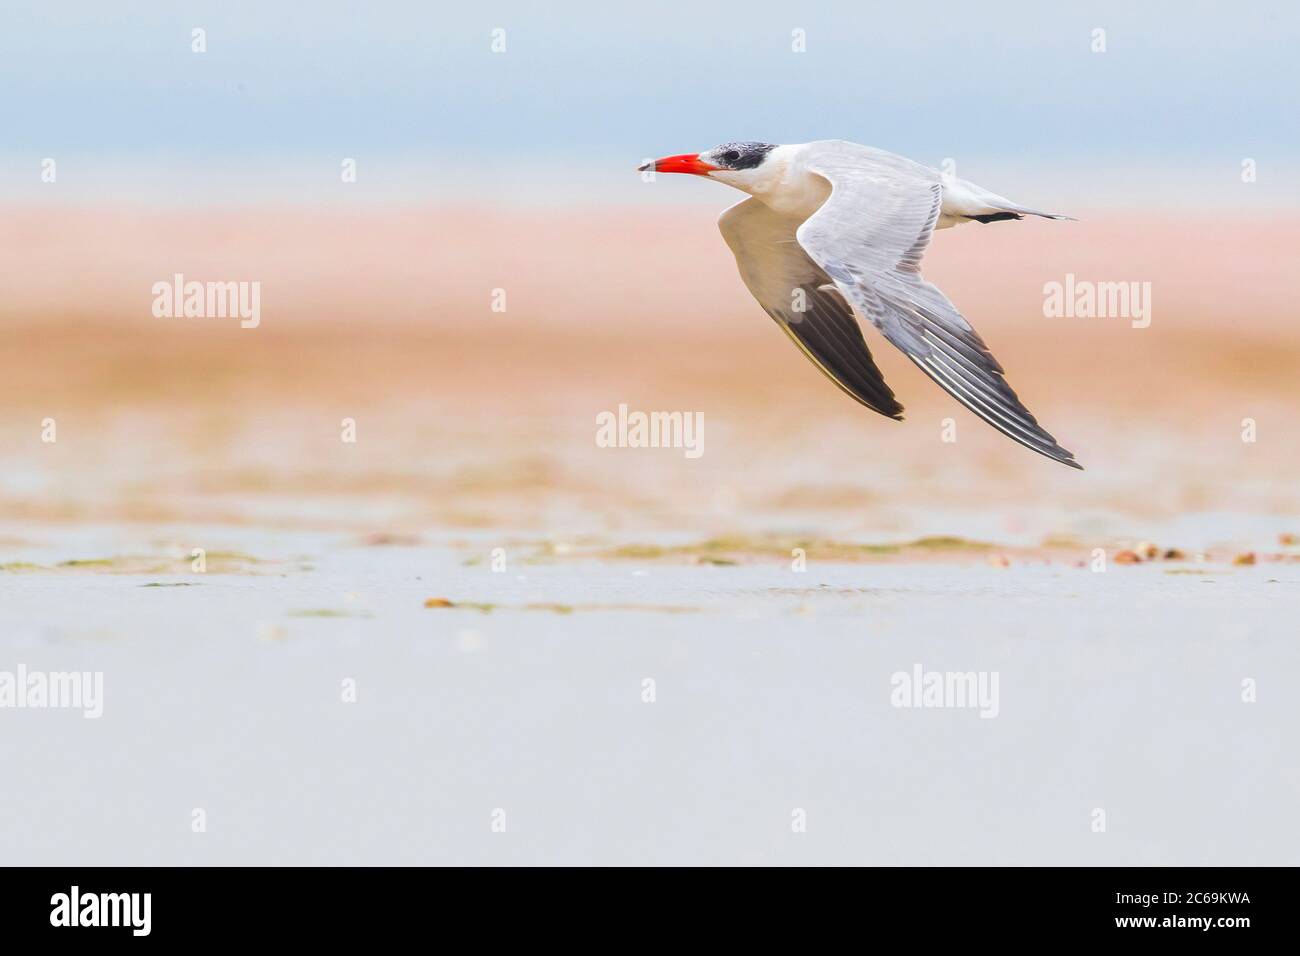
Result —
<svg viewBox="0 0 1300 956"><path fill-rule="evenodd" d="M725 139L832 137L1113 181L1300 165L1294 3L5 0L3 16L0 179L55 156L105 190L152 177L198 199L317 159L324 183L355 156L412 189L473 169L465 189L490 191L536 181L529 165L576 181Z"/></svg>

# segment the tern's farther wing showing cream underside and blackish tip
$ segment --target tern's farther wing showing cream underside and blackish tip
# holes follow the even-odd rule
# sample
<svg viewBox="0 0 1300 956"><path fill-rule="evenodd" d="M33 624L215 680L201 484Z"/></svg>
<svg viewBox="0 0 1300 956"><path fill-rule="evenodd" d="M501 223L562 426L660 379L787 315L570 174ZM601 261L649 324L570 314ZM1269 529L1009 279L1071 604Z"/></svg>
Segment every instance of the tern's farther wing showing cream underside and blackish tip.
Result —
<svg viewBox="0 0 1300 956"><path fill-rule="evenodd" d="M853 310L796 241L798 225L758 199L741 200L718 220L749 291L800 351L852 398L901 418L902 406L872 362Z"/></svg>

